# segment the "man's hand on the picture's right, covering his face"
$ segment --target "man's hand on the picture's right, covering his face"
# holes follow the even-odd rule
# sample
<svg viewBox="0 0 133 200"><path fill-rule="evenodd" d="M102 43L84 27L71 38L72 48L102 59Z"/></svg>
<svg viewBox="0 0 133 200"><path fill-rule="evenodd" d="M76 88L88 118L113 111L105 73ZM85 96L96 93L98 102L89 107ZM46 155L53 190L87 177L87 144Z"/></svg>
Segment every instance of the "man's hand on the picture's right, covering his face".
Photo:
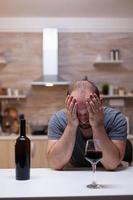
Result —
<svg viewBox="0 0 133 200"><path fill-rule="evenodd" d="M104 113L101 99L96 94L91 94L86 102L91 127L103 125Z"/></svg>

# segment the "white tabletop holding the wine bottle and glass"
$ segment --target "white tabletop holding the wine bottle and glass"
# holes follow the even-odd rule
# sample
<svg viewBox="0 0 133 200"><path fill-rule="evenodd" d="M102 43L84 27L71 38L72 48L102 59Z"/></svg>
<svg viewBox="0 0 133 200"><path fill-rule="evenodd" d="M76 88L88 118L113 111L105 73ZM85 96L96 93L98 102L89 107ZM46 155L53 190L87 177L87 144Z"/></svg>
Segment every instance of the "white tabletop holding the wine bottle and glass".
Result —
<svg viewBox="0 0 133 200"><path fill-rule="evenodd" d="M15 169L0 169L0 199L133 199L133 167L120 171L96 172L102 189L88 189L91 170L54 171L31 169L31 179L15 180Z"/></svg>

